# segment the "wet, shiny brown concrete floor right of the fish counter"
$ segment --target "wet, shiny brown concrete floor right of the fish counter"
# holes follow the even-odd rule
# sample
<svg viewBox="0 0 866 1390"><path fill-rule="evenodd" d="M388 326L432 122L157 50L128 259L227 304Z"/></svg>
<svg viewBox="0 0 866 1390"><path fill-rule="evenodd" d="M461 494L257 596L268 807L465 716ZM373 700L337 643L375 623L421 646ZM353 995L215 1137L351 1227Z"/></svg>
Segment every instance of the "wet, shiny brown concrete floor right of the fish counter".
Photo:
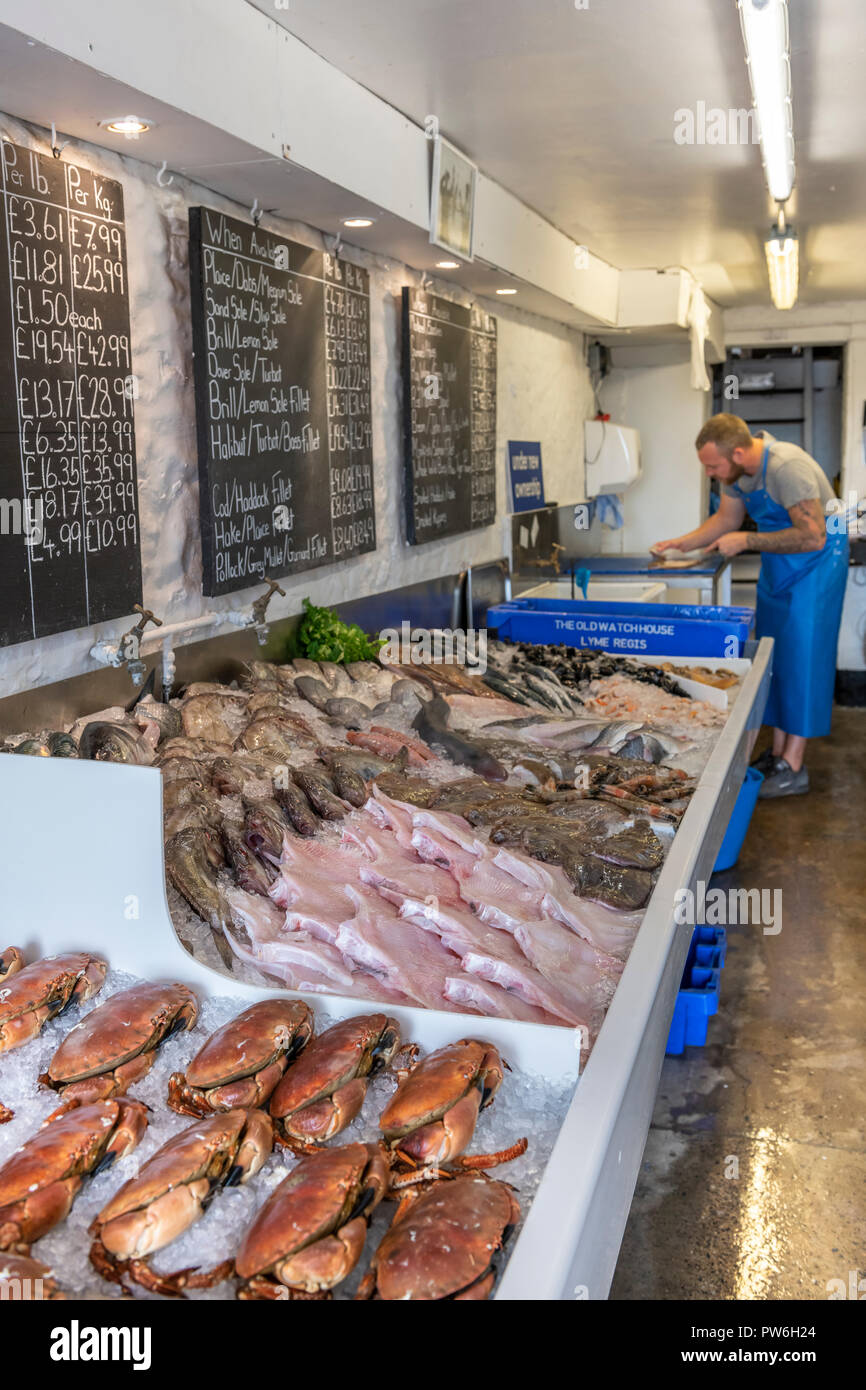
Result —
<svg viewBox="0 0 866 1390"><path fill-rule="evenodd" d="M610 1298L866 1298L866 710L808 767L712 880L783 929L728 926L708 1045L664 1059Z"/></svg>

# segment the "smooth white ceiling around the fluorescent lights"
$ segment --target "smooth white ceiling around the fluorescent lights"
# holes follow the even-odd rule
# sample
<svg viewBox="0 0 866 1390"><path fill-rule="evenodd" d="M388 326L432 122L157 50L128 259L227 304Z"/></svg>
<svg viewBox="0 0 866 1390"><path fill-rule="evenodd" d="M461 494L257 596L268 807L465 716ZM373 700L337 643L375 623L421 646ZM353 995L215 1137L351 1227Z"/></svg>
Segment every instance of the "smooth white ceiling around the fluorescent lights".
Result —
<svg viewBox="0 0 866 1390"><path fill-rule="evenodd" d="M758 146L680 146L749 106L734 0L243 0L621 268L767 300ZM866 296L866 0L788 0L801 302Z"/></svg>

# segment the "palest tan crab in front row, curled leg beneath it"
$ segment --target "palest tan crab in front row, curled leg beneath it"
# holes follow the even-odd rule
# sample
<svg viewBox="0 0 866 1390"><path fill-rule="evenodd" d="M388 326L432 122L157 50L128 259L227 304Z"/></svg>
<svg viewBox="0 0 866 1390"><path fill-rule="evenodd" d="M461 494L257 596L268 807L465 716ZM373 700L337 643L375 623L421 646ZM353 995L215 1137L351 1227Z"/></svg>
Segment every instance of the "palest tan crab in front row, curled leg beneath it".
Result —
<svg viewBox="0 0 866 1390"><path fill-rule="evenodd" d="M268 1116L254 1109L210 1115L181 1130L124 1183L92 1222L95 1269L114 1283L124 1284L128 1277L150 1293L174 1297L183 1297L185 1289L210 1289L228 1279L231 1259L206 1273L179 1269L160 1275L147 1257L197 1222L220 1188L253 1177L272 1144Z"/></svg>

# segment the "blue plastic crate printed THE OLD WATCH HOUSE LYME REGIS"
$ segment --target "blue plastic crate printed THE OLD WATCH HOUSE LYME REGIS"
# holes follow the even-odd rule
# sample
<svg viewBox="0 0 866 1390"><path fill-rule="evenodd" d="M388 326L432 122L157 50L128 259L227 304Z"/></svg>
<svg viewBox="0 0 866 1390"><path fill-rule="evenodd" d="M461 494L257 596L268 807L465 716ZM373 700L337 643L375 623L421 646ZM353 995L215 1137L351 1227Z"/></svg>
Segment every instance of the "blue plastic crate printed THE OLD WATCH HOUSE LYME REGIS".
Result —
<svg viewBox="0 0 866 1390"><path fill-rule="evenodd" d="M748 607L592 599L512 599L487 614L503 641L563 642L623 656L741 656L753 619Z"/></svg>

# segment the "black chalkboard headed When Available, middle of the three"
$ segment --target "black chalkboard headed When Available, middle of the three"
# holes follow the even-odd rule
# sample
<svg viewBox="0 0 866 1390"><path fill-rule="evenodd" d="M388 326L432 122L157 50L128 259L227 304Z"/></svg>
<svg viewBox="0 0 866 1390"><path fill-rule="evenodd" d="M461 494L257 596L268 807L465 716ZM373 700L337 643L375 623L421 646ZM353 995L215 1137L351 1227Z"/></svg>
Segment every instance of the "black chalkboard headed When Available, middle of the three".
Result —
<svg viewBox="0 0 866 1390"><path fill-rule="evenodd" d="M189 265L204 592L374 550L367 271L207 207Z"/></svg>

